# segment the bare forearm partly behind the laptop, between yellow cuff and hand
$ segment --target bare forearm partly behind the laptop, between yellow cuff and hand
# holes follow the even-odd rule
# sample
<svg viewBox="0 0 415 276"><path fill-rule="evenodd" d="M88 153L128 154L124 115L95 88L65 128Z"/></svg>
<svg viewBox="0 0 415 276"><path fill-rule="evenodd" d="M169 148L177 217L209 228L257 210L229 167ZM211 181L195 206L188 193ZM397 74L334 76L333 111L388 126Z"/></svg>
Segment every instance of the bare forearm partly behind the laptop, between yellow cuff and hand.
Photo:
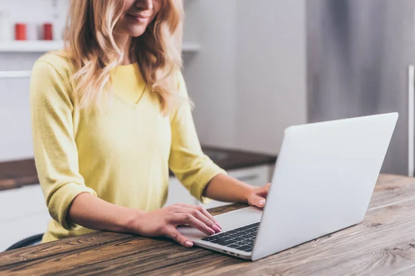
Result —
<svg viewBox="0 0 415 276"><path fill-rule="evenodd" d="M252 186L238 179L220 174L210 181L203 195L219 201L246 203L252 189Z"/></svg>

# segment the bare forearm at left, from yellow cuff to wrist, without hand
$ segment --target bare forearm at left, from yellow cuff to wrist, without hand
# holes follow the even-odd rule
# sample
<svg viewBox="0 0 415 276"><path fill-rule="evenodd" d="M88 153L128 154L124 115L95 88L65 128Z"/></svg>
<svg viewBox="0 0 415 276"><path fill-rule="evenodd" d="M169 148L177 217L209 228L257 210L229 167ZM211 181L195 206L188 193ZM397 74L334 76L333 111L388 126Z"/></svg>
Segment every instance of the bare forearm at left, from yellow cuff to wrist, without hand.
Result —
<svg viewBox="0 0 415 276"><path fill-rule="evenodd" d="M89 193L81 193L73 199L68 209L68 222L93 230L137 233L134 222L144 212L110 204Z"/></svg>

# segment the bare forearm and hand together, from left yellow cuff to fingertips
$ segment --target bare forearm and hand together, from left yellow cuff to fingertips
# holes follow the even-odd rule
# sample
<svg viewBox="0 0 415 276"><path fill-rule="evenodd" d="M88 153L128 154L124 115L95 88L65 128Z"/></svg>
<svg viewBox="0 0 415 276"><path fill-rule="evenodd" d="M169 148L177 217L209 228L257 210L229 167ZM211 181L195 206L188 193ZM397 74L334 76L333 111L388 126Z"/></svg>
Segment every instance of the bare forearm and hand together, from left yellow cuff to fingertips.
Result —
<svg viewBox="0 0 415 276"><path fill-rule="evenodd" d="M143 212L110 204L89 193L80 193L73 199L66 219L94 230L134 233L147 237L171 237L186 247L192 247L193 242L178 232L178 225L193 226L206 235L221 230L219 223L201 206L173 204Z"/></svg>

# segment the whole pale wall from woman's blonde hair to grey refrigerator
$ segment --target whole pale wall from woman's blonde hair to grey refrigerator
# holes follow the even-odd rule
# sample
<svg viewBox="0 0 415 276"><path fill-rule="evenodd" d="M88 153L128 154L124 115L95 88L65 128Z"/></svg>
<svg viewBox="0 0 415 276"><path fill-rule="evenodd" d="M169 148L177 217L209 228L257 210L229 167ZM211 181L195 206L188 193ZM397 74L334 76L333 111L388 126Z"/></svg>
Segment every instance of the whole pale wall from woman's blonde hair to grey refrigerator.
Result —
<svg viewBox="0 0 415 276"><path fill-rule="evenodd" d="M306 122L305 0L200 5L185 78L201 142L277 154L284 128Z"/></svg>

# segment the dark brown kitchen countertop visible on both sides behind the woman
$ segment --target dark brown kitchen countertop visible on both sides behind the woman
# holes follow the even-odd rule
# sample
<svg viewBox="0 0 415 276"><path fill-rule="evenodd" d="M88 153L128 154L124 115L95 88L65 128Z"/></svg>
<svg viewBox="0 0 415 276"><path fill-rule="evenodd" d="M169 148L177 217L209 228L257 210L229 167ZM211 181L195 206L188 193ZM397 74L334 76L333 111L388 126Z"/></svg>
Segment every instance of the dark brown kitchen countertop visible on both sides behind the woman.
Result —
<svg viewBox="0 0 415 276"><path fill-rule="evenodd" d="M243 150L203 146L203 152L224 170L274 164L276 157ZM172 176L172 172L169 172ZM39 184L33 159L0 163L0 190Z"/></svg>

